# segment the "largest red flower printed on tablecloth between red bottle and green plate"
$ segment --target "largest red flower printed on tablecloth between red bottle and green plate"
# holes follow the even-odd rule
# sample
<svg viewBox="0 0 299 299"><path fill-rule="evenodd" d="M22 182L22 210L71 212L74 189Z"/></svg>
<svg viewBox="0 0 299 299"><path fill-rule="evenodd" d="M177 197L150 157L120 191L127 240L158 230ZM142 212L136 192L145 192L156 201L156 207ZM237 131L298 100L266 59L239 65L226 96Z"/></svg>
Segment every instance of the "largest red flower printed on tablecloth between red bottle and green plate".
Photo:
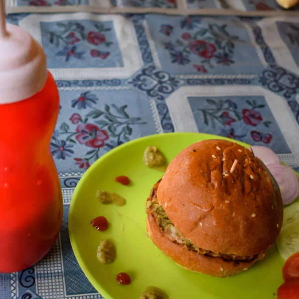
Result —
<svg viewBox="0 0 299 299"><path fill-rule="evenodd" d="M109 139L107 131L100 130L96 125L92 124L80 124L76 131L79 133L76 136L77 141L81 145L91 148L102 148L104 141Z"/></svg>

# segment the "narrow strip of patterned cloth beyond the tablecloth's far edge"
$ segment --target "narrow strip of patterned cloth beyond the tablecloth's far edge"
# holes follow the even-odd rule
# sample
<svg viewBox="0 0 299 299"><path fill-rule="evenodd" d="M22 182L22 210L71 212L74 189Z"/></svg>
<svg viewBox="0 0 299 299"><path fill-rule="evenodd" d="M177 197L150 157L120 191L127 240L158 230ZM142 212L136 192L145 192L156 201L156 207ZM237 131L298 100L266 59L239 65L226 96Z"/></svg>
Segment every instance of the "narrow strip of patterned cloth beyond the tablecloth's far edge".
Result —
<svg viewBox="0 0 299 299"><path fill-rule="evenodd" d="M276 0L6 0L8 12L92 11L169 14L298 15ZM296 13L297 11L297 13Z"/></svg>

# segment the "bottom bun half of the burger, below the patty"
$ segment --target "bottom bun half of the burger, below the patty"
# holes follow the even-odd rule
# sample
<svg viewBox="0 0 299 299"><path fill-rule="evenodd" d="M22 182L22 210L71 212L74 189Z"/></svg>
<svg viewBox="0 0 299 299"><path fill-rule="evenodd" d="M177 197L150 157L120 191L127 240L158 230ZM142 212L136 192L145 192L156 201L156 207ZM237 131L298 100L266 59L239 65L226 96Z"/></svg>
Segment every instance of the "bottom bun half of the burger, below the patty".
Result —
<svg viewBox="0 0 299 299"><path fill-rule="evenodd" d="M189 271L224 278L247 270L257 261L225 261L219 257L209 257L188 250L184 245L173 243L168 238L163 237L158 224L150 213L147 218L147 229L152 242L175 264Z"/></svg>

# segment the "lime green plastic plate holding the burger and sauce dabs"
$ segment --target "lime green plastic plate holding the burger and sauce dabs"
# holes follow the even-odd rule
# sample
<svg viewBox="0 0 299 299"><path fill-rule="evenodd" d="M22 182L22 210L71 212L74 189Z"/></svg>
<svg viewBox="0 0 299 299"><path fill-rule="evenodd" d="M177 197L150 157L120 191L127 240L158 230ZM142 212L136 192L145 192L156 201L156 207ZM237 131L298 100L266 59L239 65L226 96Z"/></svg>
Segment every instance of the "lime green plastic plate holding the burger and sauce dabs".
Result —
<svg viewBox="0 0 299 299"><path fill-rule="evenodd" d="M267 251L264 260L248 271L221 279L181 269L148 237L145 203L151 187L163 173L149 169L143 163L146 147L157 146L170 162L192 143L220 138L198 133L141 138L109 151L83 175L70 206L69 234L80 267L106 299L138 299L148 286L164 290L169 299L276 298L274 293L283 283L281 270L284 260L275 245ZM132 180L131 185L115 182L114 177L119 175L128 176ZM98 189L122 195L127 204L118 207L99 203L96 199ZM108 219L109 229L106 232L99 232L90 225L97 216ZM110 239L116 245L117 258L112 264L101 264L97 259L97 248L102 239ZM131 285L117 283L116 276L120 272L131 276Z"/></svg>

